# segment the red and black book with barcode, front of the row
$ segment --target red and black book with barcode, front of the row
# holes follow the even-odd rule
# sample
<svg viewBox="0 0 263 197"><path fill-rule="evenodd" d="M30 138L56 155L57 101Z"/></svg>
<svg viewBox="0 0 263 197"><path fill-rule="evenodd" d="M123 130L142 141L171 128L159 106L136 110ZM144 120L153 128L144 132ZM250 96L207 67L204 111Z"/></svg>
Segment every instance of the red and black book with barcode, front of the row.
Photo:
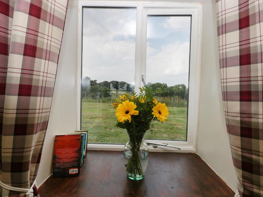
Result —
<svg viewBox="0 0 263 197"><path fill-rule="evenodd" d="M55 137L52 177L79 175L81 134L59 134Z"/></svg>

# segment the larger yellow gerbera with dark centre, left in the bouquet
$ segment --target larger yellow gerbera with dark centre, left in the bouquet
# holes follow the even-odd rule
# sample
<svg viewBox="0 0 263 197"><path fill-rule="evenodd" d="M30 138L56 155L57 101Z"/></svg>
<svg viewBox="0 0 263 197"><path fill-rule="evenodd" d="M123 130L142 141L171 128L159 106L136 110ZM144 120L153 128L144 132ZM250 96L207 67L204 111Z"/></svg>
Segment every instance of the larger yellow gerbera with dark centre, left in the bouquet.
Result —
<svg viewBox="0 0 263 197"><path fill-rule="evenodd" d="M115 112L118 122L131 122L131 115L139 114L139 111L135 110L136 107L137 106L134 104L134 102L130 102L128 100L120 103Z"/></svg>

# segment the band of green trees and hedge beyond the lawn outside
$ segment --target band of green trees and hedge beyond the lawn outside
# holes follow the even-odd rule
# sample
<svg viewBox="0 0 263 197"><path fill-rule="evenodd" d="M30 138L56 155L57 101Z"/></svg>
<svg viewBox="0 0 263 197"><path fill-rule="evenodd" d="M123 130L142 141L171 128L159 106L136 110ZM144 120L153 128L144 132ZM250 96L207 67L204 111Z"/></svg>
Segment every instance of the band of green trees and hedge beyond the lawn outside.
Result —
<svg viewBox="0 0 263 197"><path fill-rule="evenodd" d="M116 94L111 92L110 84L116 90ZM97 80L91 80L90 77L85 76L82 79L82 100L86 102L112 102L115 98L119 98L118 90L124 88L125 85L126 92L132 92L134 87L127 82L103 81L98 83ZM168 87L165 83L149 82L146 86L145 88L150 88L156 99L159 102L166 103L166 106L187 107L188 88L184 84Z"/></svg>

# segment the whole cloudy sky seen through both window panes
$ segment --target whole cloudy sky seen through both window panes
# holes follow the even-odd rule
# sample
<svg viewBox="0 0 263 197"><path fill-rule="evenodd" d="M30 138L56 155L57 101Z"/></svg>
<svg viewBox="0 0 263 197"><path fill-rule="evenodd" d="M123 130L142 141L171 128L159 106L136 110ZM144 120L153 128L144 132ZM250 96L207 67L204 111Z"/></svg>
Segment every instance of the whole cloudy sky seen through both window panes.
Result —
<svg viewBox="0 0 263 197"><path fill-rule="evenodd" d="M188 86L191 18L148 16L146 84ZM134 84L136 9L84 8L82 77Z"/></svg>

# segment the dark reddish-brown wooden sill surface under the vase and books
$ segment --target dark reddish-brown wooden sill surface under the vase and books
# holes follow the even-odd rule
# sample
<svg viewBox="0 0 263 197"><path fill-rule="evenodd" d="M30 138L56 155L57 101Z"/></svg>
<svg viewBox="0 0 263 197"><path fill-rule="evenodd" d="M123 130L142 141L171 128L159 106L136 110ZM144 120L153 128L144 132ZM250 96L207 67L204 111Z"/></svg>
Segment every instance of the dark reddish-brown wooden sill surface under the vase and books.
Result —
<svg viewBox="0 0 263 197"><path fill-rule="evenodd" d="M88 151L78 177L48 178L44 196L233 197L234 192L193 153L150 152L144 179L127 178L123 152Z"/></svg>

